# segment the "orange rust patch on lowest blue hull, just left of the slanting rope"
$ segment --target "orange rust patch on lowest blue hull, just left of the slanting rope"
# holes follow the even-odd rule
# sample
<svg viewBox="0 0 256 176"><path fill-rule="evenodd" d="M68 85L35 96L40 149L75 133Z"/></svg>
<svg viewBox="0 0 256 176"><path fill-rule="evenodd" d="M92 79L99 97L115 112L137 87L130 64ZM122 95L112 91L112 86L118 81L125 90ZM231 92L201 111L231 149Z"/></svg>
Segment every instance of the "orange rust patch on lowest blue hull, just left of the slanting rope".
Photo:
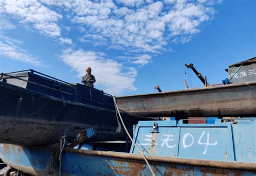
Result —
<svg viewBox="0 0 256 176"><path fill-rule="evenodd" d="M128 164L128 166L126 166ZM107 160L107 165L116 175L142 175L146 166L141 161L130 159Z"/></svg>

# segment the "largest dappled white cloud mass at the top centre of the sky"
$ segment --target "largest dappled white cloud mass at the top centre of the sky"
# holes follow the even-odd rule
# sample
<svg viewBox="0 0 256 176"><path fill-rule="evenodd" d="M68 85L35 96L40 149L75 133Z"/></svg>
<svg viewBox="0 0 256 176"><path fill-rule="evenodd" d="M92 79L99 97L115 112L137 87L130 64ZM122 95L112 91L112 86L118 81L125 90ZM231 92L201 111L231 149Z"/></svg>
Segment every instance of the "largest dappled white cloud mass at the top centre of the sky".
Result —
<svg viewBox="0 0 256 176"><path fill-rule="evenodd" d="M109 45L144 54L160 53L169 41L184 43L184 40L177 38L190 35L187 38L191 39L193 34L200 32L201 24L214 14L214 9L209 6L210 1L73 0L66 3L43 0L45 4L72 11L72 22L79 24L83 29L81 32L86 35L98 35L102 41L105 38ZM100 45L98 38L86 35L80 41ZM102 45L106 45L106 42L102 42Z"/></svg>

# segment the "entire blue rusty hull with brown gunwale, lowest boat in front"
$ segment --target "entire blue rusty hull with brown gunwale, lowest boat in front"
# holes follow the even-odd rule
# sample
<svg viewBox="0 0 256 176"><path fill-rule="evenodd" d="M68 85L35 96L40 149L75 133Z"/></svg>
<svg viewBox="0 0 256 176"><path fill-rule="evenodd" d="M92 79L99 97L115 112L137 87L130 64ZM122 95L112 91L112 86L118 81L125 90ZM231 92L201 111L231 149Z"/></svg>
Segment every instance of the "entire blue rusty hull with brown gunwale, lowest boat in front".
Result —
<svg viewBox="0 0 256 176"><path fill-rule="evenodd" d="M0 144L4 163L32 175L44 175L50 147ZM255 175L255 163L147 156L156 175ZM129 153L65 149L62 175L150 175L142 156Z"/></svg>

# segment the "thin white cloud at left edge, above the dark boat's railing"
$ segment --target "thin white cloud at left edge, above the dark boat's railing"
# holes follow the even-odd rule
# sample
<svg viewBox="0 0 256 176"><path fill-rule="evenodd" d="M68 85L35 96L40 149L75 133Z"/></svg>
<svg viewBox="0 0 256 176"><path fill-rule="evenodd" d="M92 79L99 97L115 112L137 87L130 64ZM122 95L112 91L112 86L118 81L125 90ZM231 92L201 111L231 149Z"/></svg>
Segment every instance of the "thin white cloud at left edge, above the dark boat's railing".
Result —
<svg viewBox="0 0 256 176"><path fill-rule="evenodd" d="M26 62L31 65L48 67L48 65L45 65L37 57L34 57L17 45L21 43L22 41L0 35L0 55L12 60Z"/></svg>

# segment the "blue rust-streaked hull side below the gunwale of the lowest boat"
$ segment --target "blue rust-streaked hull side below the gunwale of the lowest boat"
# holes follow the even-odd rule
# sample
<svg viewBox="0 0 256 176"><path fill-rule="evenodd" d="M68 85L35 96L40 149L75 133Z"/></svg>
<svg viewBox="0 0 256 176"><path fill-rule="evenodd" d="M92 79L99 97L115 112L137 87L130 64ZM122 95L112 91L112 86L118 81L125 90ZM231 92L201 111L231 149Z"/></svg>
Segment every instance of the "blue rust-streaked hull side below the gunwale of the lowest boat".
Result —
<svg viewBox="0 0 256 176"><path fill-rule="evenodd" d="M8 149L6 149L8 147ZM21 150L20 150L21 149ZM6 152L7 151L7 152ZM151 175L149 167L144 160L128 159L125 157L107 157L107 152L90 154L89 152L64 151L62 154L62 175ZM112 152L113 153L113 152ZM117 152L114 152L117 154ZM125 153L118 153L122 156ZM33 147L1 144L0 157L12 165L30 169L37 175L43 172L50 159L50 147ZM136 156L130 154L130 156ZM233 162L235 163L235 162ZM212 173L225 173L226 175L254 175L253 171L237 171L223 168L204 167L196 165L183 165L166 163L162 161L150 162L156 175L212 175Z"/></svg>

